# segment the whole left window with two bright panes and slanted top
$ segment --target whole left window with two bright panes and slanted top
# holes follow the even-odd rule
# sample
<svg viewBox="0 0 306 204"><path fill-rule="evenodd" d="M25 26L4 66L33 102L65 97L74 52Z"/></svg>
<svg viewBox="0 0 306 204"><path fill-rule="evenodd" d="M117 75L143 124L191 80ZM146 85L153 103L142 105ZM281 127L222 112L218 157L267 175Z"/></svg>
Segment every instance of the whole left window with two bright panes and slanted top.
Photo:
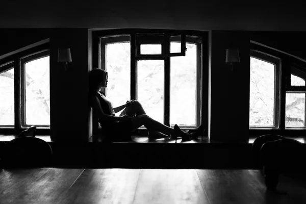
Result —
<svg viewBox="0 0 306 204"><path fill-rule="evenodd" d="M43 44L24 50L0 62L1 132L19 133L35 125L40 129L39 133L47 133L42 130L50 126L47 46Z"/></svg>

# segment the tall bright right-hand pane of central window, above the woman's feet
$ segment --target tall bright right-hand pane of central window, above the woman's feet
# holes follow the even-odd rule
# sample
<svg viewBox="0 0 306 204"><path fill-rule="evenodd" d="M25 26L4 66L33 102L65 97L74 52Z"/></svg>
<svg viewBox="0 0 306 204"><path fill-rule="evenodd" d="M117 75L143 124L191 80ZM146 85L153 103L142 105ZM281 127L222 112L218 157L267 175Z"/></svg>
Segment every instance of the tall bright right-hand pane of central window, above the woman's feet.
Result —
<svg viewBox="0 0 306 204"><path fill-rule="evenodd" d="M181 43L171 42L172 50ZM186 56L171 57L170 124L196 125L196 45L186 43Z"/></svg>

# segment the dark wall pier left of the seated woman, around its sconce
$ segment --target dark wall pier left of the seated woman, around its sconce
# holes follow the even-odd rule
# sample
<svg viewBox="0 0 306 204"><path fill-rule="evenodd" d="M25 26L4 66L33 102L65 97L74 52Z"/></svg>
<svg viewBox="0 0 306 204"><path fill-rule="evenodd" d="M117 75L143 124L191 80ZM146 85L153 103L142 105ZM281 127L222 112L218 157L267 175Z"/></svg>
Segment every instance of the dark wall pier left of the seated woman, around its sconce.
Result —
<svg viewBox="0 0 306 204"><path fill-rule="evenodd" d="M58 48L69 47L65 71ZM50 35L50 123L53 139L88 141L88 29L54 29Z"/></svg>

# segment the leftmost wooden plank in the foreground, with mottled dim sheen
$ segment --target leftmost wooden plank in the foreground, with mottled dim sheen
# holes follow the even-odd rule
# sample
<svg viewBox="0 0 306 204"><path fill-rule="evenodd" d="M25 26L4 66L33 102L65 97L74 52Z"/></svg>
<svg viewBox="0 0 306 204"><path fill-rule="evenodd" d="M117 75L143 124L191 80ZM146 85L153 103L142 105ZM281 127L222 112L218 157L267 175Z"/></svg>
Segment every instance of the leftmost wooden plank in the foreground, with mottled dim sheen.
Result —
<svg viewBox="0 0 306 204"><path fill-rule="evenodd" d="M1 203L58 203L84 169L2 169Z"/></svg>

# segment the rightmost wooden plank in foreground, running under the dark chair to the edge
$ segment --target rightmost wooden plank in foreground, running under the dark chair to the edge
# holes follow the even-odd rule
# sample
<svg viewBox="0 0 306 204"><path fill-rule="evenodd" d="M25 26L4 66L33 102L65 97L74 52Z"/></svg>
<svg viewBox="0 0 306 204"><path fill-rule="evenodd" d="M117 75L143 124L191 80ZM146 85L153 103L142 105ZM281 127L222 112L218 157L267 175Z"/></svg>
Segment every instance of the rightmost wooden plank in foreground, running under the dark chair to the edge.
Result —
<svg viewBox="0 0 306 204"><path fill-rule="evenodd" d="M306 203L306 189L286 180L280 180L277 189L287 191L287 195L266 191L259 170L197 169L196 171L211 204Z"/></svg>

